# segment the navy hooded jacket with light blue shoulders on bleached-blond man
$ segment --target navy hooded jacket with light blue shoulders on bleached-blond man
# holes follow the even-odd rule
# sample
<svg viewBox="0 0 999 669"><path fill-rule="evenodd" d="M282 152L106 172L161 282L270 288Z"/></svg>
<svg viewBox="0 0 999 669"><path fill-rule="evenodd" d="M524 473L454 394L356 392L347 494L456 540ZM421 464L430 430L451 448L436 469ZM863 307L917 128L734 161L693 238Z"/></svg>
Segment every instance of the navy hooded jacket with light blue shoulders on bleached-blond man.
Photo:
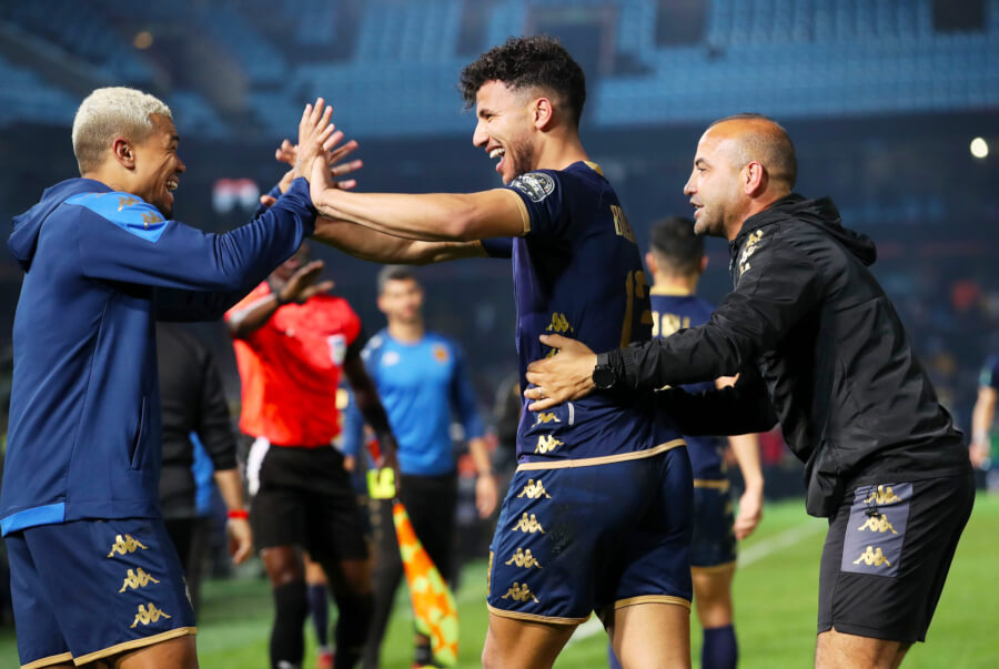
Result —
<svg viewBox="0 0 999 669"><path fill-rule="evenodd" d="M312 234L305 180L226 234L205 234L140 197L71 179L14 219L26 272L14 368L3 535L80 518L159 515L157 318L210 320Z"/></svg>

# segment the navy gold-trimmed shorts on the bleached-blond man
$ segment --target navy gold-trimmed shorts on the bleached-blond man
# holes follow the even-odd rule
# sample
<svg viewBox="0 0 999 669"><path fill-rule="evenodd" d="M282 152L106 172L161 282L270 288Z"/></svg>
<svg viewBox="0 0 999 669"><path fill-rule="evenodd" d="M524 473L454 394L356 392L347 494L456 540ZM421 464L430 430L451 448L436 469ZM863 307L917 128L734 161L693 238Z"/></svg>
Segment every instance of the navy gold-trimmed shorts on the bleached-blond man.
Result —
<svg viewBox="0 0 999 669"><path fill-rule="evenodd" d="M195 631L160 519L41 525L4 540L21 667L83 665Z"/></svg>

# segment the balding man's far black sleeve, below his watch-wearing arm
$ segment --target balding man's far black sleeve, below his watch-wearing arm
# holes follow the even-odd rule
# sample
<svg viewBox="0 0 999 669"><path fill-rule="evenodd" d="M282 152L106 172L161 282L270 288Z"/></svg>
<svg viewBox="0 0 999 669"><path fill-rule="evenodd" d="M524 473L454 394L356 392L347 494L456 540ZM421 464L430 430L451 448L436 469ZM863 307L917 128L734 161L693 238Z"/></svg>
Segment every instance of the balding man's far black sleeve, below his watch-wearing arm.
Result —
<svg viewBox="0 0 999 669"><path fill-rule="evenodd" d="M669 414L682 433L692 436L744 435L767 432L777 424L767 386L754 367L740 372L735 385L716 391L659 391L656 406Z"/></svg>

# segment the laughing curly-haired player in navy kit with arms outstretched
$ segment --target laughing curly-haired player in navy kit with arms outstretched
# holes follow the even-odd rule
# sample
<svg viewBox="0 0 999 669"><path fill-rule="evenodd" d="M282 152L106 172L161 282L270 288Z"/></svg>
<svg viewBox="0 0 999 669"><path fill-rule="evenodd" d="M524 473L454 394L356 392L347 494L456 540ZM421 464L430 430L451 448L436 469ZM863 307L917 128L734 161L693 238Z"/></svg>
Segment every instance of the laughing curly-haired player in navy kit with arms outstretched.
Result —
<svg viewBox="0 0 999 669"><path fill-rule="evenodd" d="M321 241L383 263L512 259L522 383L527 363L552 353L543 332L647 339L634 232L579 140L578 63L553 38L511 38L461 80L476 107L472 141L497 160L504 187L346 193L320 158ZM690 460L669 418L626 395L525 412L517 458L491 547L483 663L549 667L597 611L625 665L689 666Z"/></svg>

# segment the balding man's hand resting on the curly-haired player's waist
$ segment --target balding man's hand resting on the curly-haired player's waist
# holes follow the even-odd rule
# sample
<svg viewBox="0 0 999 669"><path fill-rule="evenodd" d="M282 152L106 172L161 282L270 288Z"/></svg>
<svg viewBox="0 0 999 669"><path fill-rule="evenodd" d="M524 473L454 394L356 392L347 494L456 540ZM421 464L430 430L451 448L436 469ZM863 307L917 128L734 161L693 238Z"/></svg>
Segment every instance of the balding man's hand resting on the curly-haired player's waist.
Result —
<svg viewBox="0 0 999 669"><path fill-rule="evenodd" d="M524 391L524 397L534 401L528 409L541 412L593 392L596 354L586 344L562 335L542 335L541 342L558 354L527 365L531 387Z"/></svg>

